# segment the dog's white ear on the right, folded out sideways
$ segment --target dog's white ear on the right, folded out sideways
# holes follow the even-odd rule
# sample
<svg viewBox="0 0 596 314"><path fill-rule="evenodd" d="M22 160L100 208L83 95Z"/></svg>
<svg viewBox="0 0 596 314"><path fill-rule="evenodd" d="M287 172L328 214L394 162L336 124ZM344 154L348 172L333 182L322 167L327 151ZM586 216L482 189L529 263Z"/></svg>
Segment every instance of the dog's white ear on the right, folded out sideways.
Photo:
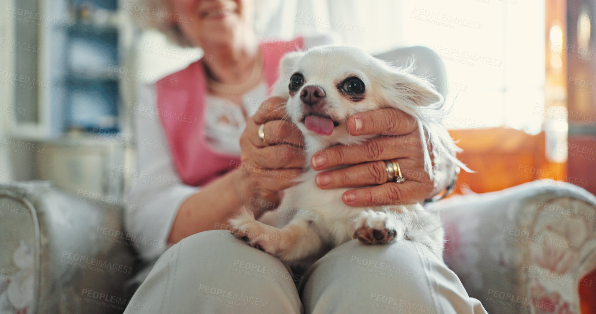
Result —
<svg viewBox="0 0 596 314"><path fill-rule="evenodd" d="M393 84L396 97L401 104L408 107L439 106L443 103L443 96L434 89L434 86L420 77L409 73L393 73Z"/></svg>

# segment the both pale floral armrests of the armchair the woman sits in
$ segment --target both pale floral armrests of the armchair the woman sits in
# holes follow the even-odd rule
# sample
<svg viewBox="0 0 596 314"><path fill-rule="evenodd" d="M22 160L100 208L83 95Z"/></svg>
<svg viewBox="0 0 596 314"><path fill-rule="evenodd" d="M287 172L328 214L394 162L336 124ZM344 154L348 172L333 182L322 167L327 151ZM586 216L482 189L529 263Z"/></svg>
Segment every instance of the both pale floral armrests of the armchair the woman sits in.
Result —
<svg viewBox="0 0 596 314"><path fill-rule="evenodd" d="M489 313L596 313L594 195L537 181L432 206L445 262ZM122 312L138 270L122 225L114 204L0 185L0 312Z"/></svg>

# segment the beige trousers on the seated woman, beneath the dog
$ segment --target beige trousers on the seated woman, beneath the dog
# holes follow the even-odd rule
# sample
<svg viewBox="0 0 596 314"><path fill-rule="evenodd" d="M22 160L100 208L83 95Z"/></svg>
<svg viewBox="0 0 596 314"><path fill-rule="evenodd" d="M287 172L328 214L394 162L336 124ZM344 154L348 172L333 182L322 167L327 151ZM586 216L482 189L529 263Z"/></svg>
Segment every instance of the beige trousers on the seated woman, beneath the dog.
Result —
<svg viewBox="0 0 596 314"><path fill-rule="evenodd" d="M296 288L299 287L299 288ZM185 238L157 261L132 313L486 313L460 279L410 241L334 248L304 275L229 231Z"/></svg>

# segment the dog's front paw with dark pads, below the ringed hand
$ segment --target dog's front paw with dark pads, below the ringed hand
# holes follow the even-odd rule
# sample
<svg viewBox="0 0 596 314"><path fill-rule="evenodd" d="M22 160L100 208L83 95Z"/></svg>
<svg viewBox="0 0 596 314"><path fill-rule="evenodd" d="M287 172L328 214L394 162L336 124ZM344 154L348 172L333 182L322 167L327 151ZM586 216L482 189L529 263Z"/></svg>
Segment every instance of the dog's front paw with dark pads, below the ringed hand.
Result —
<svg viewBox="0 0 596 314"><path fill-rule="evenodd" d="M387 244L403 237L403 228L390 213L362 212L356 218L353 238L365 244Z"/></svg>

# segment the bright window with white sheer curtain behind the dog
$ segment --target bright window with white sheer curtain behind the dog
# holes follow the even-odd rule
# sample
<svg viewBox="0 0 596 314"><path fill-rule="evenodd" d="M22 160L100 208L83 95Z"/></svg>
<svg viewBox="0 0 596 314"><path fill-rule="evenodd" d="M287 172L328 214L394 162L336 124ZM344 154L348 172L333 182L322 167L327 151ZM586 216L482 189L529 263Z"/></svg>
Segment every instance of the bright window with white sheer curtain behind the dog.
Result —
<svg viewBox="0 0 596 314"><path fill-rule="evenodd" d="M326 35L373 54L399 46L433 49L448 73L447 82L437 83L449 87L454 102L448 128L542 129L544 1L272 2L257 10L264 36Z"/></svg>

